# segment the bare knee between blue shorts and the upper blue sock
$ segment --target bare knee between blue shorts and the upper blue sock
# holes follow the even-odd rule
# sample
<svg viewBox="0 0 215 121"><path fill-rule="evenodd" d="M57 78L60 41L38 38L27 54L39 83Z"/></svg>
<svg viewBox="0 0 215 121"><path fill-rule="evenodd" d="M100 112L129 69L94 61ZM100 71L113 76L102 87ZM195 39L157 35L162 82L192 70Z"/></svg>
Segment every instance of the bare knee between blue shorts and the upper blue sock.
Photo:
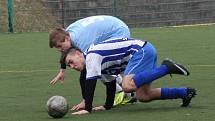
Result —
<svg viewBox="0 0 215 121"><path fill-rule="evenodd" d="M134 92L137 89L132 77L133 75L126 75L123 77L122 89L126 93Z"/></svg>

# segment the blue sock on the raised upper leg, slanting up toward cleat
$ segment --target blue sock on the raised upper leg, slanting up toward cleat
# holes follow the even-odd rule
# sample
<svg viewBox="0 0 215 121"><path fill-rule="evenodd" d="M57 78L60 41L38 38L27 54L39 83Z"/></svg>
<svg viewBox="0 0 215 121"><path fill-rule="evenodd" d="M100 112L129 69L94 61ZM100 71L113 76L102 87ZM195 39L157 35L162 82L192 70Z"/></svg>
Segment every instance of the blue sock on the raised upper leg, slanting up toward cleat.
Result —
<svg viewBox="0 0 215 121"><path fill-rule="evenodd" d="M168 73L168 68L166 65L161 65L155 69L149 71L142 71L135 74L133 80L135 85L139 88L144 84L150 84L152 81L165 76Z"/></svg>

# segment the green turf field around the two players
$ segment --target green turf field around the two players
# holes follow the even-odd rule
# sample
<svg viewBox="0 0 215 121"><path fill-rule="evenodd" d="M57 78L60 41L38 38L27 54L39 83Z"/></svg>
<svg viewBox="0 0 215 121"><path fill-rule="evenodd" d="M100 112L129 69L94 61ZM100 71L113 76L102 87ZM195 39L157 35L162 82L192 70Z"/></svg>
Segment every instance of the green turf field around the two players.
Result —
<svg viewBox="0 0 215 121"><path fill-rule="evenodd" d="M154 101L121 106L85 116L67 114L60 121L212 121L215 120L215 25L132 29L132 36L147 39L165 57L186 65L189 77L166 76L154 87L195 87L198 95L191 107L181 108L181 100ZM49 80L58 72L59 54L48 47L48 33L0 33L0 121L51 121L46 101L62 95L71 105L81 100L79 74L67 70L64 85ZM104 86L98 82L94 105L105 100Z"/></svg>

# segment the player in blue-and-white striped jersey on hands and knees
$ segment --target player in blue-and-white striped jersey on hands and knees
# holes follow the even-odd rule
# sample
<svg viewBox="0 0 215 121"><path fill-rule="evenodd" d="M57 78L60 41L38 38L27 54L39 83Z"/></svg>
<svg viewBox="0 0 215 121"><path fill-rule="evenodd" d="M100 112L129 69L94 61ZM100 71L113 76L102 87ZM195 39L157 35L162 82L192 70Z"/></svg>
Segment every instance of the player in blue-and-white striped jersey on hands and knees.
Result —
<svg viewBox="0 0 215 121"><path fill-rule="evenodd" d="M98 79L109 83L106 103L94 110L111 109L114 99L114 76L123 74L123 90L136 92L141 102L164 99L182 99L183 107L189 105L196 95L193 88L152 88L151 84L167 74L188 76L188 70L172 60L165 59L157 66L157 52L150 42L137 39L113 39L93 44L85 54L76 49L64 53L62 61L71 68L81 71L86 68L85 109L74 115L88 114L92 110L94 90Z"/></svg>

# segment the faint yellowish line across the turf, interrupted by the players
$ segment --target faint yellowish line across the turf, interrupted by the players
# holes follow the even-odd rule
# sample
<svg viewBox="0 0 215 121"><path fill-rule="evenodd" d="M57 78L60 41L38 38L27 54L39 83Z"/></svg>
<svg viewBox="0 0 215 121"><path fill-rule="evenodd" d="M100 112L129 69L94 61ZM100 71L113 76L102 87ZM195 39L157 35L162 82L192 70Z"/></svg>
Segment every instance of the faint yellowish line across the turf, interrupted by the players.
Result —
<svg viewBox="0 0 215 121"><path fill-rule="evenodd" d="M185 65L187 67L215 68L215 65ZM0 70L0 73L35 73L35 72L57 72L58 70Z"/></svg>

